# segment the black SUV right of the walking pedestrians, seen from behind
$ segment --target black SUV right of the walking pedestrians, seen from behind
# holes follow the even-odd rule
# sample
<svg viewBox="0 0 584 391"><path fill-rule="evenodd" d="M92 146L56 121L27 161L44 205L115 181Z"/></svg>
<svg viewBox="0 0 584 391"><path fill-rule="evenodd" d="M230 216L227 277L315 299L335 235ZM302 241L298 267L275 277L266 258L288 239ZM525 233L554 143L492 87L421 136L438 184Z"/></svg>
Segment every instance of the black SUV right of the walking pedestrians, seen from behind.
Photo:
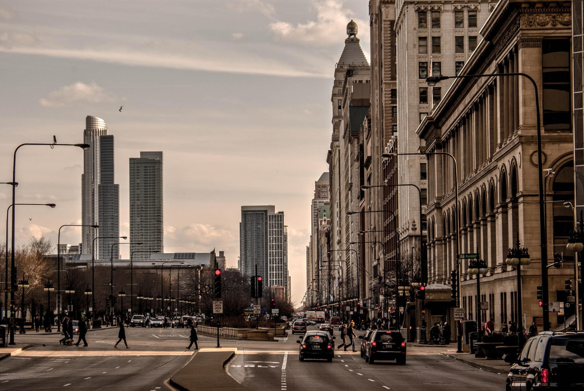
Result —
<svg viewBox="0 0 584 391"><path fill-rule="evenodd" d="M406 345L399 331L372 331L365 350L365 361L374 364L376 360L395 360L405 365Z"/></svg>

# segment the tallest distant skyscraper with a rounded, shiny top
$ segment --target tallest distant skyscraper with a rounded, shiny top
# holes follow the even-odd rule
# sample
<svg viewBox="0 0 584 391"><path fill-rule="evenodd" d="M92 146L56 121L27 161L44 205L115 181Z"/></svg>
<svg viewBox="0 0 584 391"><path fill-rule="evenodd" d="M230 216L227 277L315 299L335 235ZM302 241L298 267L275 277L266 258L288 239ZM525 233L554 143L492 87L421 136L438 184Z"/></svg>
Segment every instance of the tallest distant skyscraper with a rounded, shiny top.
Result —
<svg viewBox="0 0 584 391"><path fill-rule="evenodd" d="M84 151L84 173L81 176L81 223L98 224L99 236L119 236L119 189L114 185L113 136L107 135L105 121L88 115L85 117L84 143L91 147ZM102 172L103 171L103 172ZM103 186L102 186L103 184ZM81 227L82 254L91 254L93 239L98 231ZM118 239L96 243L96 258L109 258L109 249ZM118 250L114 248L114 259Z"/></svg>

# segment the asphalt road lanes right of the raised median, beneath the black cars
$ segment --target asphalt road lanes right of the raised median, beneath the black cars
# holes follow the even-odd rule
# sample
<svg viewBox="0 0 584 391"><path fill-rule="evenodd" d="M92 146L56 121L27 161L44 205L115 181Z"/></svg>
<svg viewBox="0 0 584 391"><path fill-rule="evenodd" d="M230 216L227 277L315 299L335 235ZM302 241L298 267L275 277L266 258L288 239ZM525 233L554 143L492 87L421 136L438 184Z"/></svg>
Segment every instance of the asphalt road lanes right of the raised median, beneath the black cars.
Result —
<svg viewBox="0 0 584 391"><path fill-rule="evenodd" d="M359 345L354 353L335 351L332 363L309 359L300 362L296 343L300 338L301 335L290 335L286 341L280 341L269 349L244 347L228 364L228 372L238 382L258 391L450 391L477 386L484 391L505 389L506 373L484 372L454 361L440 353L443 348L409 347L406 365L397 365L395 361L377 361L370 365L360 357ZM338 340L335 342L340 343Z"/></svg>

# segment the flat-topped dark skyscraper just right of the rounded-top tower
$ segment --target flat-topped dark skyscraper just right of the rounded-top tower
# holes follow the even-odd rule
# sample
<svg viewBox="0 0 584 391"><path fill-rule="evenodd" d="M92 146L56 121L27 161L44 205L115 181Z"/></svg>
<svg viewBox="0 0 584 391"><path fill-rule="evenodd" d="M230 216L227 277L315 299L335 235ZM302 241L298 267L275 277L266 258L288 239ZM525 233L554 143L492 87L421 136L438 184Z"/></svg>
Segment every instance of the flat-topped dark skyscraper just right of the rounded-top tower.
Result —
<svg viewBox="0 0 584 391"><path fill-rule="evenodd" d="M162 152L140 152L130 158L130 252L164 251ZM137 252L134 259L148 259Z"/></svg>

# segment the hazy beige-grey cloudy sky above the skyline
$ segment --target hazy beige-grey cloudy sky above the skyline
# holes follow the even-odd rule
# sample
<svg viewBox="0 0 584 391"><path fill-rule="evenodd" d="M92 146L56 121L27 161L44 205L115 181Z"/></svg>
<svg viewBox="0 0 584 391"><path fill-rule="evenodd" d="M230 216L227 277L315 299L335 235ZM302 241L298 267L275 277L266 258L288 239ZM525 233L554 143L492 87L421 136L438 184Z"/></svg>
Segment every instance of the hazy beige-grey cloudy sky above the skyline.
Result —
<svg viewBox="0 0 584 391"><path fill-rule="evenodd" d="M241 206L275 205L298 304L314 181L328 171L334 67L351 19L370 58L367 4L4 0L0 181L12 180L19 144L82 143L85 117L100 117L115 139L121 236L129 158L163 151L165 252L216 248L237 267ZM81 223L82 158L75 147L20 148L16 202L57 207L18 206L17 245L44 236L56 247L61 225ZM0 185L0 206L10 202ZM61 230L61 243L80 241L77 227Z"/></svg>

